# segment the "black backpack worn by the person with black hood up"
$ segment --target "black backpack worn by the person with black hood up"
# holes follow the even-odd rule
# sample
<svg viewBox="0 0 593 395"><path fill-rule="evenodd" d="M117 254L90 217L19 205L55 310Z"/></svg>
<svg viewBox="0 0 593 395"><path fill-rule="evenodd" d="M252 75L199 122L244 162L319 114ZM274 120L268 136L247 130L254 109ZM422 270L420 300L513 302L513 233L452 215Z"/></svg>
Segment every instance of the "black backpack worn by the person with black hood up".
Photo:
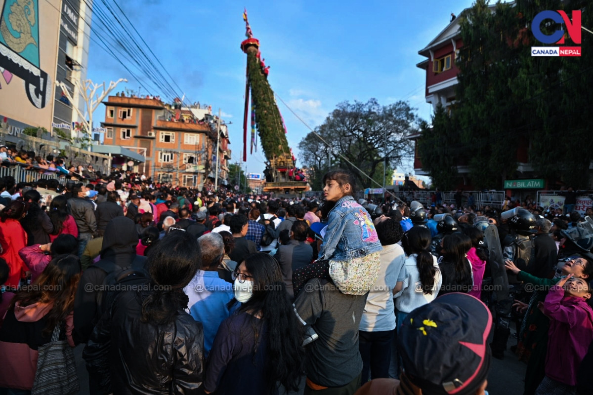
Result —
<svg viewBox="0 0 593 395"><path fill-rule="evenodd" d="M125 268L111 261L99 261L94 264L95 267L107 274L103 280L103 284L101 284L101 289L97 293L98 318L105 311L109 310L120 291L132 290L135 289L131 287L132 285L138 287L150 281L150 275L144 268L145 263L145 256L136 255L132 263Z"/></svg>

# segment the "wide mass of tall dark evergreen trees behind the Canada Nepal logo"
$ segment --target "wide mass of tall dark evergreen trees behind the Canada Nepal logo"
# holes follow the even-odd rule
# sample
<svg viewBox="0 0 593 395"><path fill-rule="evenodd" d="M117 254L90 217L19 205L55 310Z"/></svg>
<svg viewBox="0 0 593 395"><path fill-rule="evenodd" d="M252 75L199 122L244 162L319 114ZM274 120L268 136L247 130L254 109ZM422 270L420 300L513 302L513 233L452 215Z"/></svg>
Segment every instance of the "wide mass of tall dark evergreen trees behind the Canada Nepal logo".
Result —
<svg viewBox="0 0 593 395"><path fill-rule="evenodd" d="M517 152L519 143L529 146L535 176L563 179L574 187L588 183L583 175L593 159L588 109L593 54L532 57L530 50L541 46L530 25L538 12L569 13L585 5L583 0L517 0L490 6L477 0L460 15L464 45L457 57L454 114L461 130L460 154L469 158L477 187L498 187L503 179L524 176L516 172L517 162L527 160ZM545 34L560 28L548 22L541 24ZM582 25L591 24L593 15L583 12Z"/></svg>

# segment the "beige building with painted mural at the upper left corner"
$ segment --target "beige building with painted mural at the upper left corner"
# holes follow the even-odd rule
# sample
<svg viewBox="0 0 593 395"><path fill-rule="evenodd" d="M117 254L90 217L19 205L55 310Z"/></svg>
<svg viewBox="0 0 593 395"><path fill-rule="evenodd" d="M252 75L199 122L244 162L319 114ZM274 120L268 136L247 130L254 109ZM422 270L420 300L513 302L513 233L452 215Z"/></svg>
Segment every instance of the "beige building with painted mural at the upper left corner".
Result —
<svg viewBox="0 0 593 395"><path fill-rule="evenodd" d="M0 118L7 141L27 127L68 132L78 115L56 82L86 77L91 14L82 0L0 1ZM27 21L21 26L12 23ZM16 33L20 31L21 33ZM75 103L83 107L78 92ZM12 141L14 140L14 141Z"/></svg>

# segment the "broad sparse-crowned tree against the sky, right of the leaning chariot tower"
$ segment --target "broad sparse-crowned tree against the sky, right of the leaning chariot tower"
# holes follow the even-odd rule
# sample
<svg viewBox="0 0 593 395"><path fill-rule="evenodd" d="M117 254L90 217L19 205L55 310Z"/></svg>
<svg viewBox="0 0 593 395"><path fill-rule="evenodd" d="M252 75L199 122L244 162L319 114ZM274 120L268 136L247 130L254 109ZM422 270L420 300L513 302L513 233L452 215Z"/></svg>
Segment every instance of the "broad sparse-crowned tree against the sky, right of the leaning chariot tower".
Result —
<svg viewBox="0 0 593 395"><path fill-rule="evenodd" d="M331 149L314 133L309 133L299 143L303 162L314 171L311 176L314 189L320 188L319 175L323 176L327 169L352 167L340 155L371 178L380 180L382 185L384 160L389 169L401 165L404 158L412 155L412 144L407 136L416 130L414 110L404 101L386 106L381 106L377 99L338 104L315 130L331 144ZM352 170L359 185L371 184L364 175Z"/></svg>

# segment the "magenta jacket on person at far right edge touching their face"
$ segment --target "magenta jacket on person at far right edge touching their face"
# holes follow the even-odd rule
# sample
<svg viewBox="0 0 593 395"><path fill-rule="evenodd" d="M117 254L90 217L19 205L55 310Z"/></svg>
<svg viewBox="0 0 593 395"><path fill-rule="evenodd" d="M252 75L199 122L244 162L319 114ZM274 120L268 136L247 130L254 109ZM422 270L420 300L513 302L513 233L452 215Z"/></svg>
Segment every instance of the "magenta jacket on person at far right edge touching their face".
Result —
<svg viewBox="0 0 593 395"><path fill-rule="evenodd" d="M544 301L550 317L546 375L568 386L576 386L576 370L593 341L593 309L584 298L565 296L554 285Z"/></svg>

